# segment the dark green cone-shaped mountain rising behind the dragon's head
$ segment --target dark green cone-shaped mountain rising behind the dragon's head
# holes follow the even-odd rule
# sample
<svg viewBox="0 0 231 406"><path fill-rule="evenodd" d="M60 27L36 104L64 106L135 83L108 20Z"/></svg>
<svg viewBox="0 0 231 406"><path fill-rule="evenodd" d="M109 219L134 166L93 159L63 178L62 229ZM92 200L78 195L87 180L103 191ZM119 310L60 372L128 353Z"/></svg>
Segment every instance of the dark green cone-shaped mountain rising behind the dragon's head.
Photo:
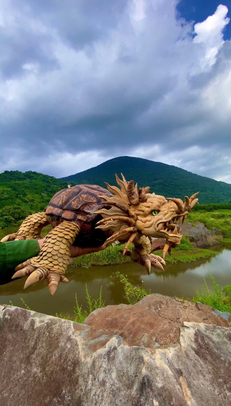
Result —
<svg viewBox="0 0 231 406"><path fill-rule="evenodd" d="M200 191L200 203L229 203L231 184L196 175L176 166L142 158L122 156L103 162L95 168L62 178L66 183L116 184L115 173L124 174L127 180L138 182L138 187L150 186L151 192L165 197L191 196Z"/></svg>

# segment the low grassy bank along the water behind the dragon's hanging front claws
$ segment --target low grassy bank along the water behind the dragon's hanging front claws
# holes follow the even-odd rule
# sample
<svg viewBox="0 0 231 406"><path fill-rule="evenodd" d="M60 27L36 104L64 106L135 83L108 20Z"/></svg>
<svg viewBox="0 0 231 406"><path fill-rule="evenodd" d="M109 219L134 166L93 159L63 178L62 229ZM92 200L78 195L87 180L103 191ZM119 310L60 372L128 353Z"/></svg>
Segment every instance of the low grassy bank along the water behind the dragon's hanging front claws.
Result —
<svg viewBox="0 0 231 406"><path fill-rule="evenodd" d="M108 247L98 253L92 253L77 257L73 261L73 266L82 266L89 268L93 265L116 265L120 263L130 262L130 257L123 256L119 250L124 248L125 244L120 246ZM130 246L132 249L132 246ZM156 251L157 255L162 255L161 251ZM177 248L173 248L171 257L167 254L166 262L191 262L201 258L214 257L218 254L216 251L194 248L186 237L182 237L181 244Z"/></svg>

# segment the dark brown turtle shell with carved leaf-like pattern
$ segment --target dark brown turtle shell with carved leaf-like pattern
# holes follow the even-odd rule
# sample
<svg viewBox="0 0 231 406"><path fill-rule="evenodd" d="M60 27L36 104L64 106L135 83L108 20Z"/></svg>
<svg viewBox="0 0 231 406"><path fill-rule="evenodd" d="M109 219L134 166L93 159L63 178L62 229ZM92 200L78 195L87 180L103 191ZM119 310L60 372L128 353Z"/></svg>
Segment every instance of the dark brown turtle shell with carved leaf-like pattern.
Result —
<svg viewBox="0 0 231 406"><path fill-rule="evenodd" d="M52 197L45 212L48 216L63 220L91 222L98 216L94 212L108 207L99 197L101 194L112 196L107 189L97 185L76 185L62 189Z"/></svg>

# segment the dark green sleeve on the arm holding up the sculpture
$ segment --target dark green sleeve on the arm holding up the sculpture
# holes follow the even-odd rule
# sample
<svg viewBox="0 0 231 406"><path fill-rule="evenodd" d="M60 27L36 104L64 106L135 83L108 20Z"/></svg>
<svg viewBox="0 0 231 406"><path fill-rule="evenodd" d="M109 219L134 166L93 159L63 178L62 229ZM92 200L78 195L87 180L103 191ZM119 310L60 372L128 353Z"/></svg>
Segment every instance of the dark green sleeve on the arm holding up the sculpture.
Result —
<svg viewBox="0 0 231 406"><path fill-rule="evenodd" d="M39 251L37 240L0 242L0 284L11 281L15 266L36 257Z"/></svg>

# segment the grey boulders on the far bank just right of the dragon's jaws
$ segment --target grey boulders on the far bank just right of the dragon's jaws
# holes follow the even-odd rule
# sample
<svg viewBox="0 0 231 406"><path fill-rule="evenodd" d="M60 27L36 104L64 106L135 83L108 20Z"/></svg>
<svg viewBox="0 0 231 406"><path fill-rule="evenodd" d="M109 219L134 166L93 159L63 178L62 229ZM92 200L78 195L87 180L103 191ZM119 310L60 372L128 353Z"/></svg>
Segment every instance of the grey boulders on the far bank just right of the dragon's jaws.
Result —
<svg viewBox="0 0 231 406"><path fill-rule="evenodd" d="M223 238L218 229L216 229L216 233L214 230L211 232L203 223L199 222L184 222L181 229L183 235L188 235L189 241L197 248L218 244Z"/></svg>

